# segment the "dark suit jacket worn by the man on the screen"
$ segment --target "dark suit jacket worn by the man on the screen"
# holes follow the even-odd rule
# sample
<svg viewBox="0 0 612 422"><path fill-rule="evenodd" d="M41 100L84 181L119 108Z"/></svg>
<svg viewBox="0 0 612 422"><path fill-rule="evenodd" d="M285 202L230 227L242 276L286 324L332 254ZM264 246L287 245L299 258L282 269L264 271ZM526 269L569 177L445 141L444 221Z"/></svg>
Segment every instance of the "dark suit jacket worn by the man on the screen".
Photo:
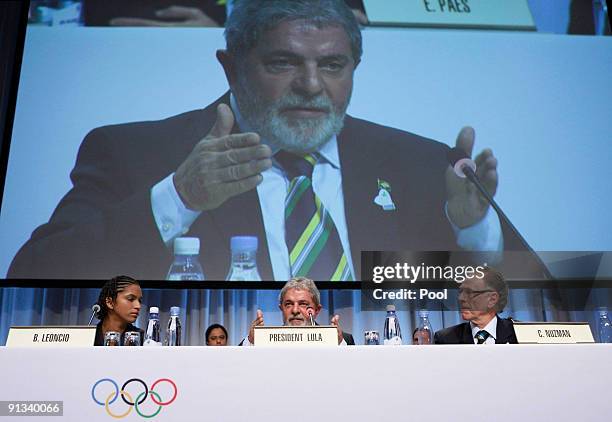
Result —
<svg viewBox="0 0 612 422"><path fill-rule="evenodd" d="M150 190L210 131L219 102L229 104L229 94L204 110L92 130L70 175L73 188L17 253L9 278L164 279L173 257L155 224ZM448 146L347 116L338 149L358 279L362 250L457 249L444 214ZM374 204L379 179L391 186L395 211ZM272 280L256 189L203 212L185 234L201 239L208 279L226 276L235 235L259 238L259 271Z"/></svg>

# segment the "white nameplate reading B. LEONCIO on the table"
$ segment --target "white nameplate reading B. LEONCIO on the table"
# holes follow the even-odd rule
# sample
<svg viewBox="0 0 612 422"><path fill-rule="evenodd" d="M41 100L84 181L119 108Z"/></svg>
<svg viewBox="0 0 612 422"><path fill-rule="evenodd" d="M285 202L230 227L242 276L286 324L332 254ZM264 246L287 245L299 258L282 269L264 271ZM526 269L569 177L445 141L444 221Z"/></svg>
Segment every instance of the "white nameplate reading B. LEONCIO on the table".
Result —
<svg viewBox="0 0 612 422"><path fill-rule="evenodd" d="M96 338L96 326L11 327L8 347L89 347Z"/></svg>

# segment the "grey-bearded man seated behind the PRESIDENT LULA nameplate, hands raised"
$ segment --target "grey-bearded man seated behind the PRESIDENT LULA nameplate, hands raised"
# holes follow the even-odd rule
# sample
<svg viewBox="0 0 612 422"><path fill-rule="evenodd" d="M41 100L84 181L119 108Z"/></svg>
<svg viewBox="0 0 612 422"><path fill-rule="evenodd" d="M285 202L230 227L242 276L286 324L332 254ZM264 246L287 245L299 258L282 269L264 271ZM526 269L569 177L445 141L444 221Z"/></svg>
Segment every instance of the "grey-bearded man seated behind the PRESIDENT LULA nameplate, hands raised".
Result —
<svg viewBox="0 0 612 422"><path fill-rule="evenodd" d="M314 282L305 277L296 277L289 280L278 295L278 308L283 314L283 325L303 326L310 325L309 311L312 319L316 319L321 312L321 293ZM257 310L257 317L249 327L248 335L240 342L239 346L251 346L254 343L255 327L264 325L264 315ZM318 324L317 324L318 325ZM340 315L334 315L331 325L338 329L338 345L354 346L353 335L342 331L340 327Z"/></svg>

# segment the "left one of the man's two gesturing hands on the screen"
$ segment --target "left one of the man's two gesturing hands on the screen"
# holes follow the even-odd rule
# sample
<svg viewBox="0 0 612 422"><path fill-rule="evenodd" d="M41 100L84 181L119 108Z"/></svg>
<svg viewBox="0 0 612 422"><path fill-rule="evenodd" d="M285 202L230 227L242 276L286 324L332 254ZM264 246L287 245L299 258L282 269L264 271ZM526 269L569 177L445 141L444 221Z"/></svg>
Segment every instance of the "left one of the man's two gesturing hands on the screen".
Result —
<svg viewBox="0 0 612 422"><path fill-rule="evenodd" d="M188 208L215 209L255 188L261 172L272 167L272 150L260 144L259 135L232 134L233 126L232 110L220 104L213 128L177 169L174 186Z"/></svg>

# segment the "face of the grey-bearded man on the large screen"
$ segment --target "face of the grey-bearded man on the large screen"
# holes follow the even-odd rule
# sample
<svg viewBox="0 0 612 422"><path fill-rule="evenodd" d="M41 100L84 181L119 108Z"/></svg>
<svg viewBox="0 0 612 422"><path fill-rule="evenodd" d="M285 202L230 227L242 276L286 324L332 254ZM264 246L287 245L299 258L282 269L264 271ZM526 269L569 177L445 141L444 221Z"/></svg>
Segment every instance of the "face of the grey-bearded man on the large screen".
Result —
<svg viewBox="0 0 612 422"><path fill-rule="evenodd" d="M297 30L302 34L320 32L307 23L299 25ZM333 40L328 44L338 45L346 39L339 28L326 32L323 37L329 35ZM271 34L270 43L262 45L274 43L274 35ZM237 64L238 76L233 92L242 118L248 129L261 135L273 150L311 153L342 130L351 97L352 71L358 62L342 54L326 58L322 65L305 63L308 60L316 59L265 57L252 52L245 60L248 65ZM264 72L274 77L262 78L263 72L258 72L256 64L254 71L248 71L247 66L253 66L253 61L263 62ZM297 78L296 73L299 73ZM348 85L347 79L351 82ZM335 96L335 101L330 95Z"/></svg>

